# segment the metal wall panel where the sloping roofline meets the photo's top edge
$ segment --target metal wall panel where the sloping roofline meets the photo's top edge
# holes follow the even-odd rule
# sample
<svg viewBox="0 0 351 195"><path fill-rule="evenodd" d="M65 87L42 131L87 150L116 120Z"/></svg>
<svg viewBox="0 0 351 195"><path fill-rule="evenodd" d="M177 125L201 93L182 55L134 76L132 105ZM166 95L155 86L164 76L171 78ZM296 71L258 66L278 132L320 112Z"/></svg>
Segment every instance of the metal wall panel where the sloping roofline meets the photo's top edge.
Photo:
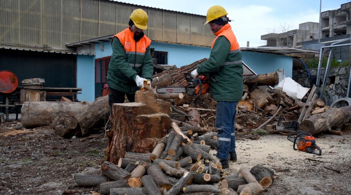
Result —
<svg viewBox="0 0 351 195"><path fill-rule="evenodd" d="M100 1L99 6L99 36L103 37L115 33L116 3L113 1Z"/></svg>

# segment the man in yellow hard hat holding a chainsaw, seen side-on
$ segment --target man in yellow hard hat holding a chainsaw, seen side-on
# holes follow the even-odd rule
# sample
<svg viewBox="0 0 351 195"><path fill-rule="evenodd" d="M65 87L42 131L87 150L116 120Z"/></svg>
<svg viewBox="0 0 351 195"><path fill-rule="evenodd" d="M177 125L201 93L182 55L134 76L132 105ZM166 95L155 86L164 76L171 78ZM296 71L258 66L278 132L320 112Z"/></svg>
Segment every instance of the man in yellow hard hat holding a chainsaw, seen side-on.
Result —
<svg viewBox="0 0 351 195"><path fill-rule="evenodd" d="M210 77L211 93L217 101L215 128L217 130L217 157L222 168L229 168L229 160L236 161L235 111L243 93L243 65L240 47L232 31L228 12L215 5L208 9L206 23L215 34L210 58L192 71ZM230 157L229 157L230 155Z"/></svg>

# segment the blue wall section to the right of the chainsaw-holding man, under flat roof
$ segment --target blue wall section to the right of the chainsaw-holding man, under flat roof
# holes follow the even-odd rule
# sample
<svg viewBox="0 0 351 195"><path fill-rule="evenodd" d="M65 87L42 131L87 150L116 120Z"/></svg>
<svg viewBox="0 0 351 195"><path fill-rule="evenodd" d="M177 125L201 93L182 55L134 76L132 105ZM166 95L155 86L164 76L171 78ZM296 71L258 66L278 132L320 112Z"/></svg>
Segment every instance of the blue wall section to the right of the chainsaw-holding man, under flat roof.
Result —
<svg viewBox="0 0 351 195"><path fill-rule="evenodd" d="M258 75L284 69L285 77L292 78L292 57L244 51L241 53L243 62Z"/></svg>

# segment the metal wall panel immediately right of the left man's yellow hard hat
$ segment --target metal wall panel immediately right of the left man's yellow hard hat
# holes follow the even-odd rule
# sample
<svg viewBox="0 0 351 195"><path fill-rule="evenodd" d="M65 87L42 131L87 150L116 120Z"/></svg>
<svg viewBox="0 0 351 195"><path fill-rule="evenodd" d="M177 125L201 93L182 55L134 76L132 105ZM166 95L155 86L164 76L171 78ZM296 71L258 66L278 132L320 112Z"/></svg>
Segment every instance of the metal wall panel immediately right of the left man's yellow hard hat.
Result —
<svg viewBox="0 0 351 195"><path fill-rule="evenodd" d="M148 32L146 36L149 39L164 40L162 34L163 28L163 11L159 9L149 8L148 12L149 21L148 21Z"/></svg>

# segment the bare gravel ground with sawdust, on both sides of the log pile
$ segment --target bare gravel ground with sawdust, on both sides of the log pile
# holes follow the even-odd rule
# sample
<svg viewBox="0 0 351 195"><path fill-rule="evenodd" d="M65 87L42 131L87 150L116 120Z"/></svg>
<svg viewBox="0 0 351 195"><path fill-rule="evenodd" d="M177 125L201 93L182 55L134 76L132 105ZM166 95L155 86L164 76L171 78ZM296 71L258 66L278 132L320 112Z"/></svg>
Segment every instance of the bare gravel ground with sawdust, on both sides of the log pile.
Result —
<svg viewBox="0 0 351 195"><path fill-rule="evenodd" d="M90 137L64 139L48 127L15 130L20 122L0 124L0 192L2 195L91 195L98 187L81 188L73 174L99 174L107 139L103 132ZM263 165L275 172L273 185L262 195L350 195L351 131L343 136L316 138L322 156L292 149L282 135L237 138L236 162L228 174L242 166ZM211 151L215 153L215 151ZM195 194L195 193L194 193ZM209 194L209 193L207 193ZM197 195L207 195L197 193Z"/></svg>

